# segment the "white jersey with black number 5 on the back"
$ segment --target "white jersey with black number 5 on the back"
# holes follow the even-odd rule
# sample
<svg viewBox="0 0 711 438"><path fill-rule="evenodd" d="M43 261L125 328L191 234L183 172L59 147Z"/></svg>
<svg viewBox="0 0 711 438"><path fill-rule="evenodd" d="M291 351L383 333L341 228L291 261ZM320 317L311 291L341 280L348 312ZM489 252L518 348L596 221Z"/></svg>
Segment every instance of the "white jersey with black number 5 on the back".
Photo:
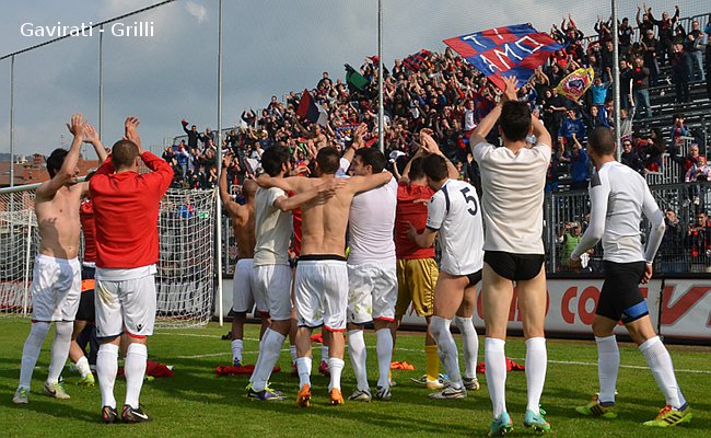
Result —
<svg viewBox="0 0 711 438"><path fill-rule="evenodd" d="M427 228L438 231L440 269L469 275L483 266L483 227L477 191L464 181L447 180L430 198Z"/></svg>

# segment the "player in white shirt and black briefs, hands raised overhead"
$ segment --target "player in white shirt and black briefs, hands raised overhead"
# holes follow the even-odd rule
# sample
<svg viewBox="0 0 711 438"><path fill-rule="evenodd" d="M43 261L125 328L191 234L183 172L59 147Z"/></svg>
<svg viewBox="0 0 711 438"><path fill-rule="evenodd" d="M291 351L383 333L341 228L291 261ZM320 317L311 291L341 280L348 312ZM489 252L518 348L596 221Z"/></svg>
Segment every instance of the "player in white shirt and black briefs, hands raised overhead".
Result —
<svg viewBox="0 0 711 438"><path fill-rule="evenodd" d="M546 172L550 164L550 134L531 114L525 102L516 101L516 79L504 78L503 102L471 132L471 153L481 172L481 211L486 226L482 272L482 304L487 335L485 362L489 396L493 405L490 436L513 429L506 412L506 356L504 344L509 311L516 284L526 338L528 403L524 426L550 430L539 402L546 381L548 355L546 319L546 269L543 243L543 205ZM486 141L496 123L503 147ZM537 143L526 145L533 134Z"/></svg>

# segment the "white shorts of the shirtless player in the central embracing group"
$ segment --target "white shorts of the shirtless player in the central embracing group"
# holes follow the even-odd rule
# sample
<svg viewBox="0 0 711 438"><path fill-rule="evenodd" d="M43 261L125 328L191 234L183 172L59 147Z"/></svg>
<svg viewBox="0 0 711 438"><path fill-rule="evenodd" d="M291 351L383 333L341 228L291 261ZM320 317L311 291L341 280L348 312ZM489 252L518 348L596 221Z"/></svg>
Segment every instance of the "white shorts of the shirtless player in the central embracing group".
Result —
<svg viewBox="0 0 711 438"><path fill-rule="evenodd" d="M294 300L300 326L324 325L331 332L346 330L348 268L343 258L311 260L296 265Z"/></svg>

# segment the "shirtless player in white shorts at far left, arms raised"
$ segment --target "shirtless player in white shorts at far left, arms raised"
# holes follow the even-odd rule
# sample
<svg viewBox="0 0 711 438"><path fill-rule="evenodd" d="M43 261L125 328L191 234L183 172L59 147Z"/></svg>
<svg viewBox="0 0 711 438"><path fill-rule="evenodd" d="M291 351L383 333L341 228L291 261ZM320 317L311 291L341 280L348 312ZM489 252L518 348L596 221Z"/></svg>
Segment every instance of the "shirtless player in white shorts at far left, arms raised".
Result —
<svg viewBox="0 0 711 438"><path fill-rule="evenodd" d="M81 265L79 254L79 206L86 193L86 183L77 184L77 162L86 124L81 114L74 114L67 124L74 136L69 151L55 149L47 158L47 172L51 180L37 187L35 215L39 227L39 250L35 257L32 293L32 330L22 350L20 384L12 401L28 402L30 383L42 344L55 322L49 373L45 394L69 399L59 376L69 356L74 316L81 293Z"/></svg>

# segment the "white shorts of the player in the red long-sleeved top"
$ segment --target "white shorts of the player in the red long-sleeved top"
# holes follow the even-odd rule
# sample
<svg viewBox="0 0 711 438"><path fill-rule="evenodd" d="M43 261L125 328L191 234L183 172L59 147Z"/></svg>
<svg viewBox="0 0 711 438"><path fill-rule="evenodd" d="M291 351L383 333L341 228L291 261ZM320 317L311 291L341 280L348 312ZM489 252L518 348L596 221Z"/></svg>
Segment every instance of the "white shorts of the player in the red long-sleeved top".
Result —
<svg viewBox="0 0 711 438"><path fill-rule="evenodd" d="M97 275L94 303L96 336L100 339L115 338L124 332L131 337L150 336L155 324L155 276L149 274L126 280L109 280Z"/></svg>

